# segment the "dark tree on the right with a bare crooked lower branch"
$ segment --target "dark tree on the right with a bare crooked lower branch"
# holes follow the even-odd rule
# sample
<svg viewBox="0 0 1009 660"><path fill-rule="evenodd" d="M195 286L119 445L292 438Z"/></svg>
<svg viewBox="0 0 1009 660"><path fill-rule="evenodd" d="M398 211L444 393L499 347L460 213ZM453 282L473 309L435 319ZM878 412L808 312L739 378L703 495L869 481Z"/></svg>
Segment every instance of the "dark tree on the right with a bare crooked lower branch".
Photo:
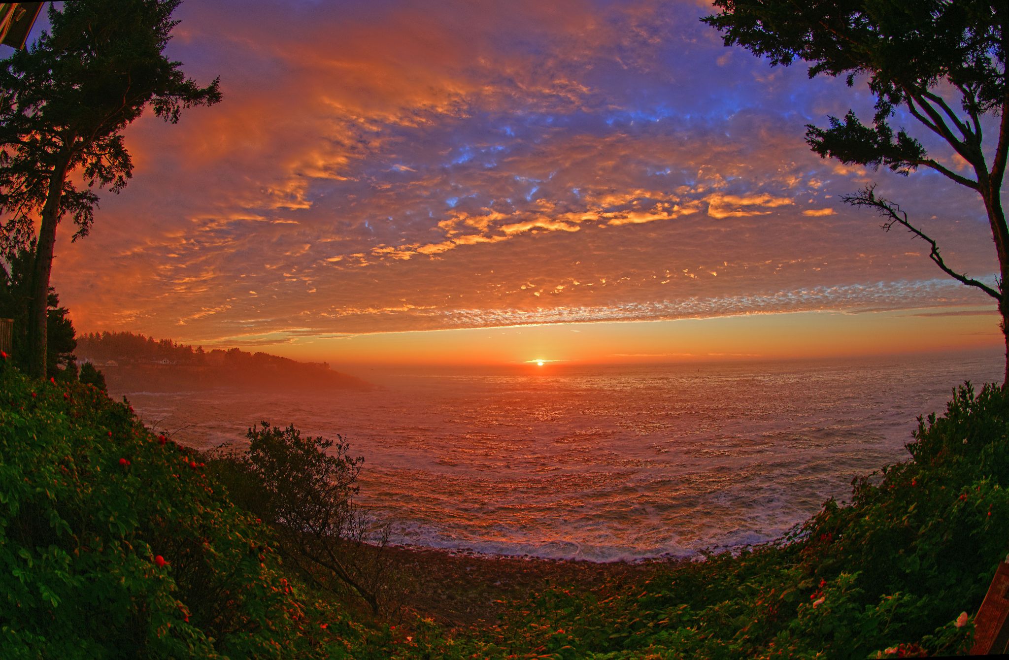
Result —
<svg viewBox="0 0 1009 660"><path fill-rule="evenodd" d="M740 44L774 66L800 60L809 77L868 78L876 98L872 125L855 112L829 118L829 126L807 125L813 151L847 163L881 164L907 175L931 169L976 191L984 204L998 254L999 277L989 286L948 265L937 244L875 187L845 197L898 224L931 245L929 257L958 282L991 296L1002 315L1009 384L1009 228L1000 188L1009 150L1009 87L1006 85L1005 0L714 0L719 13L702 20L719 29L726 45ZM943 140L966 160L972 176L954 172L926 153L904 128L890 125L902 109L919 131ZM996 128L986 134L986 116Z"/></svg>

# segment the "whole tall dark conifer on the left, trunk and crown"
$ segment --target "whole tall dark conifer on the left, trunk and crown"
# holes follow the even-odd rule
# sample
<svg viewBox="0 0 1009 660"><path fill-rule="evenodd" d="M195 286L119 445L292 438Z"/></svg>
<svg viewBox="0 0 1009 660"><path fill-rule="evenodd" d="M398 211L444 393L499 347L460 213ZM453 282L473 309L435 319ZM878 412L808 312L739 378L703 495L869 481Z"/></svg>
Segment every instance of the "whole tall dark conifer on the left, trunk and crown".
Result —
<svg viewBox="0 0 1009 660"><path fill-rule="evenodd" d="M77 0L49 6L51 32L0 61L0 247L24 246L39 221L28 309L28 372L45 371L46 294L57 225L87 235L96 188L120 192L133 170L122 130L148 105L176 123L217 103L163 50L180 0ZM83 182L83 186L80 183ZM80 187L79 187L80 186Z"/></svg>

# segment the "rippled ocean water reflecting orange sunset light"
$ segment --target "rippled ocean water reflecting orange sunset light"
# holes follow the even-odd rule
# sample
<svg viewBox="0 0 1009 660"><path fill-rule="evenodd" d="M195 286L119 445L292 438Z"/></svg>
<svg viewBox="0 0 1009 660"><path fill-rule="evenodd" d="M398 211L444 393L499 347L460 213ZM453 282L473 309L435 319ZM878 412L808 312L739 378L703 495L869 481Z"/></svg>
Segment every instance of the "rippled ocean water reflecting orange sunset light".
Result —
<svg viewBox="0 0 1009 660"><path fill-rule="evenodd" d="M908 457L1001 355L356 372L371 392L126 394L197 447L260 420L346 436L393 542L595 561L777 538Z"/></svg>

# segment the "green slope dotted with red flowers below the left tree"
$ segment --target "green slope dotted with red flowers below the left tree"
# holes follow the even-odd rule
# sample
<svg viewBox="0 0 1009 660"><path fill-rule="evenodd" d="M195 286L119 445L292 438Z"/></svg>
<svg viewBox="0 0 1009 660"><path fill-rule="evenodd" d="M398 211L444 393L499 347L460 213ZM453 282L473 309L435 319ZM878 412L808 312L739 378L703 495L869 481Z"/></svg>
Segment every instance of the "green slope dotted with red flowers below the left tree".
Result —
<svg viewBox="0 0 1009 660"><path fill-rule="evenodd" d="M0 369L5 657L341 657L360 639L193 451L92 386Z"/></svg>

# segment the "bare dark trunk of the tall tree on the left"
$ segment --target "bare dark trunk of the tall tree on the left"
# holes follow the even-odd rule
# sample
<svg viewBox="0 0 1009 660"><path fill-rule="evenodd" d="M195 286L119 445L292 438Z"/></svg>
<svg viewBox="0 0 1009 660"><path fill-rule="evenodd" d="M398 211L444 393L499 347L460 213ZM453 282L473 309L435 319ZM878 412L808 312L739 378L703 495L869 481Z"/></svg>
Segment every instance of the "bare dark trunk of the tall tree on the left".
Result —
<svg viewBox="0 0 1009 660"><path fill-rule="evenodd" d="M38 244L35 247L35 262L31 273L31 303L28 308L28 374L36 378L45 377L46 336L48 315L49 276L52 272L52 250L57 242L57 225L60 224L60 203L63 198L64 181L67 179L69 154L61 154L49 178L49 189L42 207L42 222L38 230Z"/></svg>

